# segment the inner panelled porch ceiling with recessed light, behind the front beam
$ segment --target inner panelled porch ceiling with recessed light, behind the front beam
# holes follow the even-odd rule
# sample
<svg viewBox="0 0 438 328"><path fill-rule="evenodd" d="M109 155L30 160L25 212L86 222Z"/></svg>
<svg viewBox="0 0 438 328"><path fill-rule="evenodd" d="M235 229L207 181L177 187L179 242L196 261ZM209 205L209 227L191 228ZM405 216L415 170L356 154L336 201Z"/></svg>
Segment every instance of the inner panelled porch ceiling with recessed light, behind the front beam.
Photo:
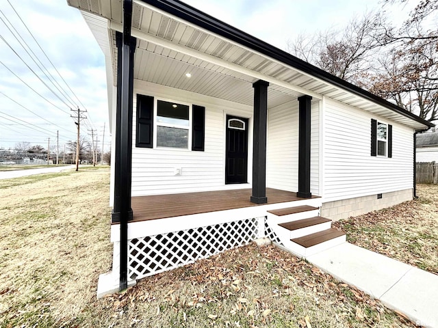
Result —
<svg viewBox="0 0 438 328"><path fill-rule="evenodd" d="M192 77L185 77L187 72ZM137 42L134 78L244 105L253 105L252 85L257 81L246 74L144 40ZM276 107L300 96L293 90L280 91L277 88L277 85L269 87L268 107Z"/></svg>

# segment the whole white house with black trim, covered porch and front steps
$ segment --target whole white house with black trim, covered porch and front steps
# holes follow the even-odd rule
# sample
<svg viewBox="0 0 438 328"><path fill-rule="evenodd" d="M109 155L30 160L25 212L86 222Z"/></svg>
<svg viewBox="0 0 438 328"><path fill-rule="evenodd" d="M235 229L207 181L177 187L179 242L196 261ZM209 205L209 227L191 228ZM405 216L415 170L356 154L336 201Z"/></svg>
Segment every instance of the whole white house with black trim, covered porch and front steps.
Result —
<svg viewBox="0 0 438 328"><path fill-rule="evenodd" d="M68 4L107 67L99 296L263 236L309 256L345 241L331 219L413 198L426 120L179 0Z"/></svg>

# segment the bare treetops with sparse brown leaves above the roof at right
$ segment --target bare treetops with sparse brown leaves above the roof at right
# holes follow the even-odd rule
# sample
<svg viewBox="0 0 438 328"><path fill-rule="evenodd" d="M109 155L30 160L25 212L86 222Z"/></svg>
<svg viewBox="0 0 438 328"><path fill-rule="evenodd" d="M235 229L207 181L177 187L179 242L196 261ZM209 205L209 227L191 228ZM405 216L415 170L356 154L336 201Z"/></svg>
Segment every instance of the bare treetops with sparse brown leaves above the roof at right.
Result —
<svg viewBox="0 0 438 328"><path fill-rule="evenodd" d="M385 0L400 5L411 0ZM383 14L353 19L344 31L299 36L289 52L395 102L426 120L438 120L438 1L420 0L396 29Z"/></svg>

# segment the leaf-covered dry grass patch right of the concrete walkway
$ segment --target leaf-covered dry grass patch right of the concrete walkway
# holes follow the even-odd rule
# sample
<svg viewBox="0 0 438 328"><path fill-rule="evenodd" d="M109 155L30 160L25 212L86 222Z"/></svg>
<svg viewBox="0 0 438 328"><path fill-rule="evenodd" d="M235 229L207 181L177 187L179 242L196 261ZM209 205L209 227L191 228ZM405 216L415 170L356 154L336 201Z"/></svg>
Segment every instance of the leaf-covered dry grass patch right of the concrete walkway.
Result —
<svg viewBox="0 0 438 328"><path fill-rule="evenodd" d="M419 184L418 199L334 223L347 241L438 274L438 185Z"/></svg>

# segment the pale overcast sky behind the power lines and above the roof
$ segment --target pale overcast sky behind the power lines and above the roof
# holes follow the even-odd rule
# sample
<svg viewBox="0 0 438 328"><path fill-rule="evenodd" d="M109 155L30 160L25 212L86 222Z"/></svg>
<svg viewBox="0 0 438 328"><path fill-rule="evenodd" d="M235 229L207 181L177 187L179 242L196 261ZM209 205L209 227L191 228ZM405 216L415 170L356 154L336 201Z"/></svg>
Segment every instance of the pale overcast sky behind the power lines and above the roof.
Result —
<svg viewBox="0 0 438 328"><path fill-rule="evenodd" d="M341 28L354 16L381 9L379 0L185 2L280 49L285 49L287 40L293 40L298 33L313 33L331 27ZM54 67L14 10L21 16ZM396 23L400 23L409 12L409 8L400 5L386 10ZM21 44L25 46L24 40L29 45L31 51L55 77L56 86L44 77L14 35ZM105 63L101 49L79 10L68 7L66 0L1 0L0 36L0 148L13 148L21 141L47 148L48 138L54 144L59 131L62 150L66 141L75 140L76 126L70 118L70 113L74 113L70 109L79 106L81 110L88 111L83 114L88 119L81 122L81 134L86 135L91 128L96 129L101 148L105 123L105 151L109 150ZM61 96L64 93L66 96Z"/></svg>

